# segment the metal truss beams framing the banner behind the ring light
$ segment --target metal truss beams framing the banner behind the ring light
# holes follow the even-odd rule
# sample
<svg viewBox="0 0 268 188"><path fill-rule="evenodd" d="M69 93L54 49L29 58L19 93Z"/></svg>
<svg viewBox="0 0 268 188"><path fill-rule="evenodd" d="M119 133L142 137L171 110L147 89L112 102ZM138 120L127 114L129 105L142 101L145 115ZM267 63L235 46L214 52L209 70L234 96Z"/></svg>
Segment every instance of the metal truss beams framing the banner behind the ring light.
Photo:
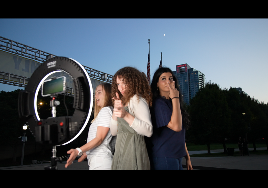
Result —
<svg viewBox="0 0 268 188"><path fill-rule="evenodd" d="M21 44L0 36L0 50L14 53L19 56L31 58L32 60L44 62L50 58L57 57L53 54L38 50L36 48ZM101 81L112 83L113 75L82 65L88 76ZM19 87L26 87L30 78L0 71L0 83ZM67 87L68 95L74 96L74 89Z"/></svg>

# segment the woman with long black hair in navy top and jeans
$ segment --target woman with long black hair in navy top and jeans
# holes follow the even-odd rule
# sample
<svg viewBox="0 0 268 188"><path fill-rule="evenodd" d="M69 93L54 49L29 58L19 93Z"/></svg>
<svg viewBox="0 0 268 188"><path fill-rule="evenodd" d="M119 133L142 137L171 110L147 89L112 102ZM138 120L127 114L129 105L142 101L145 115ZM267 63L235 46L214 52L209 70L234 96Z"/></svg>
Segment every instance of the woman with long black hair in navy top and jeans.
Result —
<svg viewBox="0 0 268 188"><path fill-rule="evenodd" d="M154 74L151 88L154 169L182 170L183 157L186 158L187 169L192 169L185 144L185 130L188 128L189 119L183 109L182 95L176 77L169 68L159 68Z"/></svg>

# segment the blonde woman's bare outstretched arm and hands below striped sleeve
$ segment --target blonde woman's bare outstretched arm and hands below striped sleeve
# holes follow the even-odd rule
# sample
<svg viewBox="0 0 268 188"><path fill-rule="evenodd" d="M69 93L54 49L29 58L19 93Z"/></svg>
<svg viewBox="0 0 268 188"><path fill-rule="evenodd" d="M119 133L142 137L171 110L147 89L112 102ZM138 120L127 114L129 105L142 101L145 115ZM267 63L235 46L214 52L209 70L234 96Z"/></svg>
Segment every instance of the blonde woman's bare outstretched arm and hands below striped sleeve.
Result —
<svg viewBox="0 0 268 188"><path fill-rule="evenodd" d="M98 126L97 133L96 133L96 138L94 138L90 142L88 142L85 145L83 145L82 147L80 147L80 149L83 152L83 155L81 156L81 159L78 160L78 162L81 162L86 158L86 153L85 152L95 148L96 146L99 146L102 143L102 141L105 139L107 133L109 132L109 129L110 129L109 127ZM72 164L72 162L74 161L74 159L78 155L78 150L71 149L67 153L70 154L70 157L67 160L65 168L67 168L68 166L70 166Z"/></svg>

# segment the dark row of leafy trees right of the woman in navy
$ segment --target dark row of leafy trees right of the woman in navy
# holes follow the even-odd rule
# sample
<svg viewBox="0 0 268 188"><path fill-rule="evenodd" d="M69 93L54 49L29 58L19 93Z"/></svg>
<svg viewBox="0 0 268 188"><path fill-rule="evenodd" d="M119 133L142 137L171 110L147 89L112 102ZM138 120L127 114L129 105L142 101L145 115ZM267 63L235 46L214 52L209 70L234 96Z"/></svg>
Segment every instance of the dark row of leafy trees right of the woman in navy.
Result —
<svg viewBox="0 0 268 188"><path fill-rule="evenodd" d="M209 81L190 99L187 110L191 121L188 139L194 144L207 144L208 154L210 144L215 142L221 142L227 153L226 138L237 141L239 136L251 141L254 151L255 142L264 138L268 150L268 103Z"/></svg>

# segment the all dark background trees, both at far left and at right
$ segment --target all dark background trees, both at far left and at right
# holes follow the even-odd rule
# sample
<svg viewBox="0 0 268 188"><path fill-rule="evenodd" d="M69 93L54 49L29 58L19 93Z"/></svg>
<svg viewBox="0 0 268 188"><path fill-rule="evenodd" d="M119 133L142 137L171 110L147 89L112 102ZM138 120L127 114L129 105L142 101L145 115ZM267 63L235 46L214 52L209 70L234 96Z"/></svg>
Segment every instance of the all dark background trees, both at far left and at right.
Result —
<svg viewBox="0 0 268 188"><path fill-rule="evenodd" d="M23 135L21 121L18 117L18 95L21 90L0 92L0 135L2 143L16 147L18 136ZM51 117L50 97L38 95L37 107L41 119ZM57 107L56 116L67 115L64 107L64 95L59 95L57 100L61 104ZM42 102L42 104L40 104ZM73 97L65 96L68 115L74 112ZM259 102L254 97L250 98L236 89L222 89L216 83L207 82L197 94L190 99L186 107L190 116L191 126L186 132L186 137L194 144L207 144L210 154L210 144L221 142L224 152L226 138L237 141L239 136L253 143L264 138L268 148L268 103ZM87 130L88 130L87 126ZM83 131L83 138L87 137L87 130ZM34 140L27 130L28 140ZM15 149L15 148L14 148Z"/></svg>

